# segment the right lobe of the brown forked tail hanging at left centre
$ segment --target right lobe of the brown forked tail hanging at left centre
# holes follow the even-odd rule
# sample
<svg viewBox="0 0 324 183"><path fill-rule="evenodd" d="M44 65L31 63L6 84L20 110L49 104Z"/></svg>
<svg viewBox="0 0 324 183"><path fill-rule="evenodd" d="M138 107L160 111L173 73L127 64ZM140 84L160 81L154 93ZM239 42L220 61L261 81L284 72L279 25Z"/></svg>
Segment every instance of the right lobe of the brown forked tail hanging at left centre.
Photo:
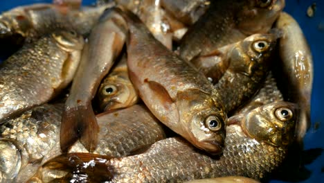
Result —
<svg viewBox="0 0 324 183"><path fill-rule="evenodd" d="M91 153L98 145L99 126L92 106L79 106L78 116L80 117L80 142Z"/></svg>

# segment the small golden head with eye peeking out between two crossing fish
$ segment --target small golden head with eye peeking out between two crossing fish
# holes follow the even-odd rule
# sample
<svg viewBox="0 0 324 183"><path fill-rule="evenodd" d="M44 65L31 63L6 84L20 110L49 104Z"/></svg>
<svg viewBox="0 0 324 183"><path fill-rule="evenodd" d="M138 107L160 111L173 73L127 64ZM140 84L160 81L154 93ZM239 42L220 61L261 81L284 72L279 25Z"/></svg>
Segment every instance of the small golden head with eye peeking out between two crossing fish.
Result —
<svg viewBox="0 0 324 183"><path fill-rule="evenodd" d="M105 80L98 90L100 108L105 111L117 110L133 105L137 101L136 96L132 83L125 82L120 76Z"/></svg>

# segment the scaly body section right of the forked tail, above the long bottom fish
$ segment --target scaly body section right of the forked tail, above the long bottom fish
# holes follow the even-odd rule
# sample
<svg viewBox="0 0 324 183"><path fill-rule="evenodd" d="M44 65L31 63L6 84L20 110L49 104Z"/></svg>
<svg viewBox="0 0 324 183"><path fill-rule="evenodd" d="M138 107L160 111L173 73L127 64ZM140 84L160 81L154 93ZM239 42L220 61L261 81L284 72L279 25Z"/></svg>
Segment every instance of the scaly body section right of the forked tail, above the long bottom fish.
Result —
<svg viewBox="0 0 324 183"><path fill-rule="evenodd" d="M106 117L98 117L99 143L94 151L111 157L125 157L165 138L163 126L146 107L134 105Z"/></svg>

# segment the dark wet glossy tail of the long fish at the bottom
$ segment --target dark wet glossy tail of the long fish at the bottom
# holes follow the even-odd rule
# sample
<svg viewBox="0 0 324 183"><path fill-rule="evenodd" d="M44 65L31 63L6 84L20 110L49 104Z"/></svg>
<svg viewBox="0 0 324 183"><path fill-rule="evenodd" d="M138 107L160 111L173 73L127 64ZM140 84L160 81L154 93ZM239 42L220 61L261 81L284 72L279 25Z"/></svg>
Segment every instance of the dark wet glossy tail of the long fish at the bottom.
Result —
<svg viewBox="0 0 324 183"><path fill-rule="evenodd" d="M45 170L65 171L67 176L87 175L89 182L111 181L114 168L110 165L111 157L92 153L69 153L48 160L42 168ZM82 176L84 177L84 176ZM64 180L71 180L64 177Z"/></svg>

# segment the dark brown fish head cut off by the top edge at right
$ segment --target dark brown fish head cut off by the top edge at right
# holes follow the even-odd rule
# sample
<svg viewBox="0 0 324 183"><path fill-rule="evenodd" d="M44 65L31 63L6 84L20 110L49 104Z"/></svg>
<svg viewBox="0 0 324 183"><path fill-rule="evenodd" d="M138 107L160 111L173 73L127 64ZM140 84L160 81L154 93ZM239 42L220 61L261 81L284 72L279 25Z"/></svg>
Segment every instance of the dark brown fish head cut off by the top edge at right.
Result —
<svg viewBox="0 0 324 183"><path fill-rule="evenodd" d="M252 0L238 13L238 28L246 35L267 33L285 7L285 0Z"/></svg>

